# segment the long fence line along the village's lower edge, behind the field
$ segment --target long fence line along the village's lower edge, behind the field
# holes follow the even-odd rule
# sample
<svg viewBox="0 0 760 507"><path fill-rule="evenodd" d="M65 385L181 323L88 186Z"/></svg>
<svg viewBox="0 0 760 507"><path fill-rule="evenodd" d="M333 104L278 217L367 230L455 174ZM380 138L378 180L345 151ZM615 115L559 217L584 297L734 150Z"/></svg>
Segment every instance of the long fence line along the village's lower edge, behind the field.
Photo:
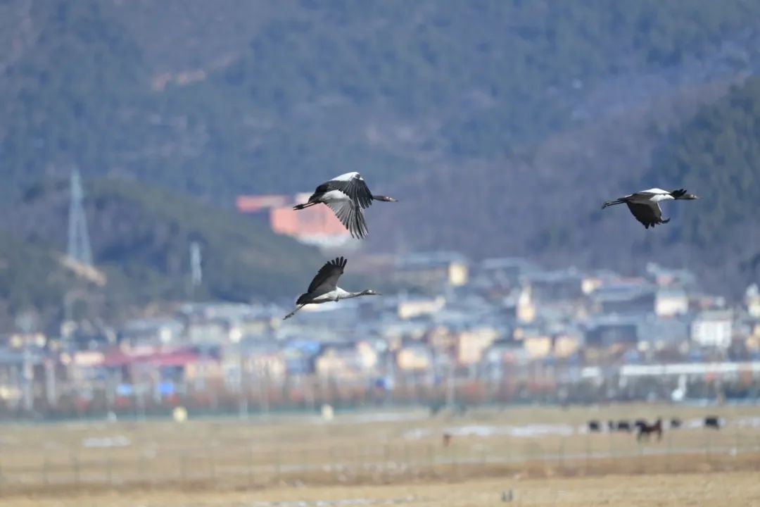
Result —
<svg viewBox="0 0 760 507"><path fill-rule="evenodd" d="M0 420L88 419L108 413L141 419L167 416L178 405L188 408L192 414L265 414L315 412L322 404L340 409L435 406L444 401L481 406L536 401L589 404L651 400L652 396L670 400L673 391L679 388L679 375L685 375L688 398L757 401L760 399L760 371L754 365L750 363L752 368L744 368L742 364L717 363L721 366L716 366L717 373L707 369L711 365L696 365L705 369L705 375L689 365L680 365L682 369L676 368L679 365L625 366L619 374L605 373L598 368L559 366L515 367L496 373L477 369L451 378L398 372L387 384L378 384L375 376L269 378L252 375L242 385L230 385L214 378L204 382L175 382L167 390L163 390L166 388L163 383L126 385L109 381L95 382L86 395L78 391L82 386L59 382L50 393L46 392L45 385L31 390L30 396L33 396L28 403L0 401Z"/></svg>

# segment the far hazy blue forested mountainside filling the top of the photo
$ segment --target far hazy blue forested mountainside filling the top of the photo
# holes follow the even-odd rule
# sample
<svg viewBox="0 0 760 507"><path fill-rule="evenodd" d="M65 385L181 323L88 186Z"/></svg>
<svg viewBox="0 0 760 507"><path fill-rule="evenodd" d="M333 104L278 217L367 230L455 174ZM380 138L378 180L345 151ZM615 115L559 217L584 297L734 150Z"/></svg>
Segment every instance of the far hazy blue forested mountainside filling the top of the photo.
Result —
<svg viewBox="0 0 760 507"><path fill-rule="evenodd" d="M5 192L76 163L220 203L315 173L498 159L594 116L578 107L607 79L725 44L720 61L746 67L760 15L739 0L10 3L23 31L0 67L0 146L24 185Z"/></svg>

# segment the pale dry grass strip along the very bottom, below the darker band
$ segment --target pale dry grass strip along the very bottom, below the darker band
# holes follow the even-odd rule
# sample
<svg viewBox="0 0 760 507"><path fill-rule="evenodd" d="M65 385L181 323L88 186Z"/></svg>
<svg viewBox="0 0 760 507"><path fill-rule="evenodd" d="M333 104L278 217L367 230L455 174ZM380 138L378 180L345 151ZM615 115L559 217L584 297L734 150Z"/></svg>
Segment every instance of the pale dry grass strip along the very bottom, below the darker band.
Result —
<svg viewBox="0 0 760 507"><path fill-rule="evenodd" d="M512 500L502 501L511 490ZM754 472L656 474L644 476L490 478L456 483L383 486L277 487L240 492L133 491L77 496L15 497L17 507L496 507L568 505L575 507L752 507L760 505Z"/></svg>

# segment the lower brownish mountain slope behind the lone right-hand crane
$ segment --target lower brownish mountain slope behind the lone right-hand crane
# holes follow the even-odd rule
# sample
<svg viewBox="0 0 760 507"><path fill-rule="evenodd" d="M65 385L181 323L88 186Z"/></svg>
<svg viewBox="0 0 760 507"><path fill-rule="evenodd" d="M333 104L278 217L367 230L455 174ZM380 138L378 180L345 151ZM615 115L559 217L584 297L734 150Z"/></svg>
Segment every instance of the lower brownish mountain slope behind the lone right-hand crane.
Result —
<svg viewBox="0 0 760 507"><path fill-rule="evenodd" d="M758 279L758 83L678 92L500 164L420 176L393 190L406 209L375 219L372 247L402 237L391 248L526 255L629 274L655 261L691 268L705 288L736 295ZM684 116L691 119L681 124ZM600 210L606 199L653 186L685 187L705 199L664 203L673 220L654 230L625 208Z"/></svg>

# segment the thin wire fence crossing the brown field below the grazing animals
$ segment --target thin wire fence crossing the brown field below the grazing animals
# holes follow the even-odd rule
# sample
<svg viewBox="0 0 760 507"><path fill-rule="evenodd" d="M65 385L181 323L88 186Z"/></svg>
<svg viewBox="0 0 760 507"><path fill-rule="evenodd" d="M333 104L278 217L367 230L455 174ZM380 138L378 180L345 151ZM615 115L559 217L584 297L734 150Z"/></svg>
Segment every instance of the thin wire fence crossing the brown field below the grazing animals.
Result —
<svg viewBox="0 0 760 507"><path fill-rule="evenodd" d="M102 445L97 447L97 445ZM8 450L8 449L6 449ZM19 492L125 487L255 487L275 484L392 483L425 478L533 474L641 474L757 469L760 431L739 426L666 432L661 441L632 435L576 433L540 438L454 436L426 441L261 448L214 442L187 448L44 448L0 455L0 496Z"/></svg>

